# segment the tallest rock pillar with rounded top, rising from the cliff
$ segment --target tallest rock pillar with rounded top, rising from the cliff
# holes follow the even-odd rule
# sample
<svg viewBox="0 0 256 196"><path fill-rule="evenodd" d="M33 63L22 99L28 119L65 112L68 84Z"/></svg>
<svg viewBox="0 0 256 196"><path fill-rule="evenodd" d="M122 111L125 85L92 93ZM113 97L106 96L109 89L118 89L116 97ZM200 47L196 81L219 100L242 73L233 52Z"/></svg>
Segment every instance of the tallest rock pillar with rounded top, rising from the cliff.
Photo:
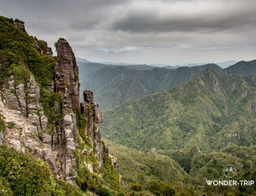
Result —
<svg viewBox="0 0 256 196"><path fill-rule="evenodd" d="M62 133L63 161L62 176L66 181L75 184L75 178L70 178L71 167L76 171L77 165L74 156L77 138L77 110L80 110L79 104L79 84L78 67L74 53L66 40L59 40L57 44L58 63L55 66L55 89L62 95L62 124L57 128L54 134L58 138L58 133ZM68 177L68 179L67 179Z"/></svg>

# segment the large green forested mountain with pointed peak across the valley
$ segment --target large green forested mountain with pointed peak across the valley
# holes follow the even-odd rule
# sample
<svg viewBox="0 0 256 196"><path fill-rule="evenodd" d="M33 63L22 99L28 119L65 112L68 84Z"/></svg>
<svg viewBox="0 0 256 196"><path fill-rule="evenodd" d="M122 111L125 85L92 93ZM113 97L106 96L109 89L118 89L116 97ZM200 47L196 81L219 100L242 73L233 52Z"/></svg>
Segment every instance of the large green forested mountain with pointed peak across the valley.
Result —
<svg viewBox="0 0 256 196"><path fill-rule="evenodd" d="M104 111L102 134L141 150L249 146L256 136L255 85L255 75L225 76L208 69L166 92Z"/></svg>

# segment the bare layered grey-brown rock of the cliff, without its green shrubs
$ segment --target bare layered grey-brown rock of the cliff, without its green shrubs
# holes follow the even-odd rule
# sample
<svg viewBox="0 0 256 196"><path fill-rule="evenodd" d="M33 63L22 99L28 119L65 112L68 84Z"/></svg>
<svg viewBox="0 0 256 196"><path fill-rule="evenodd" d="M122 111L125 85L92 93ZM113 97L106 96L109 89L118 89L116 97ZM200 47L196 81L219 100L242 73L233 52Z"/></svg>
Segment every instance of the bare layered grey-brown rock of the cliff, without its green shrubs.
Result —
<svg viewBox="0 0 256 196"><path fill-rule="evenodd" d="M75 151L79 149L77 111L87 120L84 132L92 144L90 151L95 153L99 162L98 170L103 164L103 153L108 156L108 149L104 147L103 150L98 128L102 115L94 102L93 93L84 92L84 102L79 102L78 67L74 53L64 39L57 42L55 81L48 85L48 90L60 94L63 99L60 107L62 118L53 128L48 126L48 118L40 102L40 89L34 77L30 76L27 83L15 81L13 76L8 79L0 92L0 114L6 123L5 132L0 133L0 144L6 143L24 152L31 151L36 157L47 161L56 178L76 184ZM96 169L90 163L87 166L92 172Z"/></svg>

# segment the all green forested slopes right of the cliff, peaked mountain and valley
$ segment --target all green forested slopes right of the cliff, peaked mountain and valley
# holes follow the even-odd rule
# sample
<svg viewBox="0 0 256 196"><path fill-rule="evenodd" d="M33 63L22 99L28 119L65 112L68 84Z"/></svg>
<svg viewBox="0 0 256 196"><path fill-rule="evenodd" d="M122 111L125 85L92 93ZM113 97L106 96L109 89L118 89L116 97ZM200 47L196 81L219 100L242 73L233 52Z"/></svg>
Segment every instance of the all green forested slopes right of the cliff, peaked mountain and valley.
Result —
<svg viewBox="0 0 256 196"><path fill-rule="evenodd" d="M104 111L102 135L144 151L106 140L122 165L120 173L125 184L146 187L149 181L162 180L176 190L175 195L255 195L255 186L208 186L205 181L229 180L223 173L228 164L237 168L238 175L234 179L254 179L254 78L255 75L225 76L209 69L166 92L137 101L127 100ZM157 149L154 156L151 153L153 147ZM185 175L177 173L178 169L174 167L176 176L165 179L165 173L159 171L167 170L159 163L163 155L175 161L172 165L183 168ZM142 161L143 156L147 157L146 161ZM147 174L145 165L154 170ZM161 173L159 176L153 175L155 165L161 168L157 170ZM139 178L136 172L143 176ZM135 187L132 186L133 191ZM139 192L150 194L145 191L148 189ZM134 195L139 195L137 192Z"/></svg>

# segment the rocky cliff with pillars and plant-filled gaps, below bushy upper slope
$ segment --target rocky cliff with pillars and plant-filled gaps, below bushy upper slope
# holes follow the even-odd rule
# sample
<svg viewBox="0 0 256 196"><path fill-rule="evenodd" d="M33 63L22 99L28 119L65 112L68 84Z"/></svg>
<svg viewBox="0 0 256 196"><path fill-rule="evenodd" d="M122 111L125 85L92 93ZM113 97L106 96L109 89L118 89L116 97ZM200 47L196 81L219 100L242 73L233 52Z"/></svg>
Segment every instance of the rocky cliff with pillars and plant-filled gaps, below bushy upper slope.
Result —
<svg viewBox="0 0 256 196"><path fill-rule="evenodd" d="M24 22L15 20L13 25L24 32L18 33L27 36ZM48 57L52 57L45 41L35 39L30 45L38 58L49 61ZM38 83L39 76L31 69L25 79L14 74L2 83L0 117L6 128L0 132L0 144L31 152L48 163L54 177L71 184L80 179L78 185L87 189L90 183L81 180L85 178L82 172L90 171L99 179L106 175L106 167L114 169L119 165L101 141L98 123L103 119L93 93L85 91L84 102L79 102L79 71L68 41L60 38L56 50L53 78L47 85ZM0 68L4 69L1 64ZM104 159L107 163L101 171Z"/></svg>

